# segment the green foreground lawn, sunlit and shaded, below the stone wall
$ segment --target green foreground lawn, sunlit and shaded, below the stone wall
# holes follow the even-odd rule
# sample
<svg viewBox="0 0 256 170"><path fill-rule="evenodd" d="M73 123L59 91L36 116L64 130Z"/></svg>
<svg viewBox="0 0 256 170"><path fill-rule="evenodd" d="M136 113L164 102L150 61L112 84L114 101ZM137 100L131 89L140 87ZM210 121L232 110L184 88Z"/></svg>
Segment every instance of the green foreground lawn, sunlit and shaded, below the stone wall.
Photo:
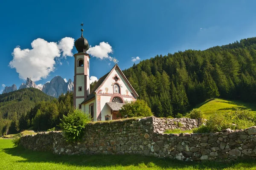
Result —
<svg viewBox="0 0 256 170"><path fill-rule="evenodd" d="M183 162L135 155L59 156L13 147L0 139L1 170L256 170L255 161L222 164Z"/></svg>

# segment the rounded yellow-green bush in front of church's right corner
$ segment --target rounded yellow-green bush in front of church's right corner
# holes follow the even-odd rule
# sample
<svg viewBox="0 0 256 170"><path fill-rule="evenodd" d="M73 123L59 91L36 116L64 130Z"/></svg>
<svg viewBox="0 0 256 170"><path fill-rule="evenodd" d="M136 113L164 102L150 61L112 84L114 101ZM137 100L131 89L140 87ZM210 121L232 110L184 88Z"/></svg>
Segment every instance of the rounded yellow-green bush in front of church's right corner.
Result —
<svg viewBox="0 0 256 170"><path fill-rule="evenodd" d="M144 100L137 99L135 102L127 102L119 111L123 118L153 116L151 109Z"/></svg>

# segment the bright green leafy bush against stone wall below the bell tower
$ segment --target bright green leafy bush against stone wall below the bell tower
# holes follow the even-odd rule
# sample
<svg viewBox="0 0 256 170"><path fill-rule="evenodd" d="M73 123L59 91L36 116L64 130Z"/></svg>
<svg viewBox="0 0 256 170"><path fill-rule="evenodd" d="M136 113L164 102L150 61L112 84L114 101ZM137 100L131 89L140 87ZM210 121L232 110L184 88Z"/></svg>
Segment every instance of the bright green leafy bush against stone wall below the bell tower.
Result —
<svg viewBox="0 0 256 170"><path fill-rule="evenodd" d="M66 137L67 141L74 142L82 139L84 135L85 125L90 121L91 118L89 114L76 109L69 112L67 116L63 115L60 127L63 130L64 136Z"/></svg>

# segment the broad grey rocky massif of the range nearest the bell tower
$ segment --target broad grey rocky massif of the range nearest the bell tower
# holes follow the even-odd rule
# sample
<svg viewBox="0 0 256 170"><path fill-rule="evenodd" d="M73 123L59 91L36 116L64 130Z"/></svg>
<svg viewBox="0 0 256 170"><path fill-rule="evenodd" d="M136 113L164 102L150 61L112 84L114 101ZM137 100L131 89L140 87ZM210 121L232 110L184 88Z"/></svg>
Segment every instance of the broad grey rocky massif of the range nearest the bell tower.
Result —
<svg viewBox="0 0 256 170"><path fill-rule="evenodd" d="M73 91L74 84L71 79L68 82L60 77L54 77L50 82L43 85L42 91L49 96L58 97L62 93L65 94L67 91Z"/></svg>

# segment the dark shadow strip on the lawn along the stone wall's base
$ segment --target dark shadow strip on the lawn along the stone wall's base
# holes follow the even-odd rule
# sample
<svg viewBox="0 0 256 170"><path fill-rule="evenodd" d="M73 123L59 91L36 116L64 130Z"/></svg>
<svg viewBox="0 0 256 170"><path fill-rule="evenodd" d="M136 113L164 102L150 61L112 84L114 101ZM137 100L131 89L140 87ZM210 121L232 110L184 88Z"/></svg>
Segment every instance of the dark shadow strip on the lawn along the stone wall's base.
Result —
<svg viewBox="0 0 256 170"><path fill-rule="evenodd" d="M66 156L66 155L55 155L49 152L38 152L32 150L25 150L20 147L14 148L6 148L3 151L12 156L20 156L26 161L18 161L18 162L51 162L56 164L64 164L64 165L73 165L78 167L112 167L112 166L129 166L134 165L138 168L145 167L160 167L160 168L191 168L191 169L224 169L224 168L236 168L239 167L256 167L256 162L246 161L246 162L236 162L235 164L224 164L217 162L203 162L203 163L195 163L195 162L184 162L177 161L172 159L158 159L154 157L144 157L137 155L81 155L81 156Z"/></svg>

